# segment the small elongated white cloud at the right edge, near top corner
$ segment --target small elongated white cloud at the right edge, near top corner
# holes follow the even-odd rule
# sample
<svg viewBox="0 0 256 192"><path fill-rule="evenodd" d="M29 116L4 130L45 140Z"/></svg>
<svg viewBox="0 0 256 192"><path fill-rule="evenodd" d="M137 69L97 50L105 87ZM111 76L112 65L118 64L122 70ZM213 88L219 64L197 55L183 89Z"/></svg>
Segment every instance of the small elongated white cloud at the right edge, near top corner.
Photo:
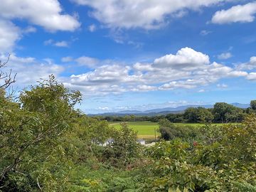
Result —
<svg viewBox="0 0 256 192"><path fill-rule="evenodd" d="M256 2L245 5L233 6L228 10L217 11L212 18L212 23L247 23L255 20Z"/></svg>

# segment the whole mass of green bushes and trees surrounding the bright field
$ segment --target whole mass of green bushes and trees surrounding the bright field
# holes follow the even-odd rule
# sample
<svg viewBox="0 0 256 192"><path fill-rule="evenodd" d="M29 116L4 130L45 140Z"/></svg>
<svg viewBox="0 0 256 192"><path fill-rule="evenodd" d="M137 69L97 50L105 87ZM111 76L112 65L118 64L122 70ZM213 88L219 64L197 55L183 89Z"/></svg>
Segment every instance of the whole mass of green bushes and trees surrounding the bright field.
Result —
<svg viewBox="0 0 256 192"><path fill-rule="evenodd" d="M161 117L162 140L144 147L128 124L116 129L75 110L80 100L53 75L18 101L2 87L0 191L255 191L255 102L176 114L204 126Z"/></svg>

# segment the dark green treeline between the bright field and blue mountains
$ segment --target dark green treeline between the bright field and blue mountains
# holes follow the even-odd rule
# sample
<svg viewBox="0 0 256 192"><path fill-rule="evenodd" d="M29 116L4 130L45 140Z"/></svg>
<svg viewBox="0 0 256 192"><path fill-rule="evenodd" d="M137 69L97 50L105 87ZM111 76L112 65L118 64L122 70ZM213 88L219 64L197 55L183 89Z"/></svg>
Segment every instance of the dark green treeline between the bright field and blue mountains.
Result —
<svg viewBox="0 0 256 192"><path fill-rule="evenodd" d="M213 108L206 109L204 107L189 107L184 112L177 114L137 116L134 114L126 115L124 117L118 116L99 116L102 120L108 122L139 122L151 121L159 122L160 119L169 119L170 122L191 122L191 123L229 123L242 122L247 114L256 112L256 100L250 102L250 107L242 109L235 107L225 102L216 102Z"/></svg>

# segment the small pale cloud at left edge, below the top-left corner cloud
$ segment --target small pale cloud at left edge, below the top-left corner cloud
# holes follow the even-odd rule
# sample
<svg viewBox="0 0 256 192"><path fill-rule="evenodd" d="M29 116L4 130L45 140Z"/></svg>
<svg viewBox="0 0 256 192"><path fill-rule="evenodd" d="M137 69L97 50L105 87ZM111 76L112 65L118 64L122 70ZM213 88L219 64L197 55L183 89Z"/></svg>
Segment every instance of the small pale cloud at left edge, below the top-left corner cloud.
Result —
<svg viewBox="0 0 256 192"><path fill-rule="evenodd" d="M0 19L0 53L11 52L16 41L21 38L21 30L11 21Z"/></svg>

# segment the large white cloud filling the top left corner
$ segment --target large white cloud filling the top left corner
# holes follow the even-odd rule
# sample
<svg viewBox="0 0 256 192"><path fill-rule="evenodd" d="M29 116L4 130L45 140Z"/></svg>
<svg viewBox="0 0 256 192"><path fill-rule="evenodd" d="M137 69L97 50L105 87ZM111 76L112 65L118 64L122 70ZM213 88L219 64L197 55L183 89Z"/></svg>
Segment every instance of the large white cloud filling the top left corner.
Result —
<svg viewBox="0 0 256 192"><path fill-rule="evenodd" d="M58 0L1 0L0 16L27 19L48 31L75 31L80 26L75 16L63 14Z"/></svg>

